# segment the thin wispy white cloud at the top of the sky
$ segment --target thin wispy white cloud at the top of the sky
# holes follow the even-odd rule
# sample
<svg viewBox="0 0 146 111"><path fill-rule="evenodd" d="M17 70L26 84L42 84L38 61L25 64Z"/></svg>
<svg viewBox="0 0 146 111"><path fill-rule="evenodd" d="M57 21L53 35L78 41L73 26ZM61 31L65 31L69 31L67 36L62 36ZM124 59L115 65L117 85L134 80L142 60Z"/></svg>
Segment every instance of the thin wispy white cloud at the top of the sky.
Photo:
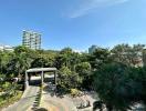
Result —
<svg viewBox="0 0 146 111"><path fill-rule="evenodd" d="M94 9L121 4L129 0L82 0L83 2L70 12L69 18L77 18L92 12Z"/></svg>

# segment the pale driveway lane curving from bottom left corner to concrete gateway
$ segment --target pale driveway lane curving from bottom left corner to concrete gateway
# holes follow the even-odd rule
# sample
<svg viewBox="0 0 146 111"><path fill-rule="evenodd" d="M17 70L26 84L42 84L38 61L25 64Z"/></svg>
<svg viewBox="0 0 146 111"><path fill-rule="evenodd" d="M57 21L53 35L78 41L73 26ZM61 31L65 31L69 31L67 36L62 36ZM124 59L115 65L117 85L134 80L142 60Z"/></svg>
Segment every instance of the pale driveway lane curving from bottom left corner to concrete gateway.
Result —
<svg viewBox="0 0 146 111"><path fill-rule="evenodd" d="M18 102L3 109L2 111L27 111L33 105L38 91L38 85L30 85Z"/></svg>

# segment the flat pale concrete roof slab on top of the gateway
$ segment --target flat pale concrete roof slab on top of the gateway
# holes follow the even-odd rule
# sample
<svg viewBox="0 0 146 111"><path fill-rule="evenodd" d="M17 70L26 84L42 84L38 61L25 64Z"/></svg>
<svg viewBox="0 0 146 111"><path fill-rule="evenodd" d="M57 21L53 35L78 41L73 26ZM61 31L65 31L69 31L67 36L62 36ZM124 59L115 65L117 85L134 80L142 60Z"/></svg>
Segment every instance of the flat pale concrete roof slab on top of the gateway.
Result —
<svg viewBox="0 0 146 111"><path fill-rule="evenodd" d="M33 68L29 69L25 72L42 72L42 71L56 71L56 68Z"/></svg>

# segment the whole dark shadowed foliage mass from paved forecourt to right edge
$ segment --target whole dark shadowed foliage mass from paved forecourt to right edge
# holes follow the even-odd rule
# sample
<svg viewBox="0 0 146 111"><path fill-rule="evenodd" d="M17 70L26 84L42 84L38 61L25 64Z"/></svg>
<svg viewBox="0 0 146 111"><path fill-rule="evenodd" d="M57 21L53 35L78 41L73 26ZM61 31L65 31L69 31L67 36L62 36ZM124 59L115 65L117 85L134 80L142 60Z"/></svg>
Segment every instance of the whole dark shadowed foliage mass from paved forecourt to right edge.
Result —
<svg viewBox="0 0 146 111"><path fill-rule="evenodd" d="M145 101L146 74L144 68L132 68L112 62L95 71L94 89L109 108L126 111L129 105Z"/></svg>

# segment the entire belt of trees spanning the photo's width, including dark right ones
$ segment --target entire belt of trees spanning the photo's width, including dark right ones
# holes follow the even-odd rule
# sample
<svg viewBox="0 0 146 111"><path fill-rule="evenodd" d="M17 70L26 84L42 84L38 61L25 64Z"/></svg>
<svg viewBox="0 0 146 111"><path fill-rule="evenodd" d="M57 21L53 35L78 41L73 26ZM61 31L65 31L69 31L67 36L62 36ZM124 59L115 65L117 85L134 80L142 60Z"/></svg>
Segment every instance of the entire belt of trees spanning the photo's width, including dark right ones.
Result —
<svg viewBox="0 0 146 111"><path fill-rule="evenodd" d="M118 44L112 50L97 48L90 54L74 52L71 48L34 51L19 46L14 52L0 51L0 73L4 73L0 74L0 90L12 95L9 93L10 90L14 93L12 87L18 88L6 81L22 77L29 68L56 67L58 85L63 91L93 90L94 84L107 108L125 111L135 101L146 104L146 68L137 65L142 52L145 63L143 44Z"/></svg>

